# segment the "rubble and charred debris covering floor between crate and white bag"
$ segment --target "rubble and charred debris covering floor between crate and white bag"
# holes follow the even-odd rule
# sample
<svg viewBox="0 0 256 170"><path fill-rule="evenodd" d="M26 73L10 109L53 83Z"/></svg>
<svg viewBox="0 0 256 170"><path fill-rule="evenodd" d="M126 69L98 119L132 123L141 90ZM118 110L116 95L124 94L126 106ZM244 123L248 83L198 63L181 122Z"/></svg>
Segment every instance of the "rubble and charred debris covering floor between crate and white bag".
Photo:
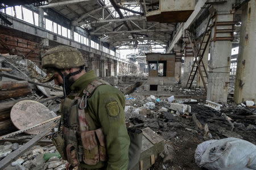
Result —
<svg viewBox="0 0 256 170"><path fill-rule="evenodd" d="M230 103L218 111L206 106L203 99L168 101L169 97L137 94L125 97L126 120L150 127L165 140L164 153L152 169L201 169L195 163L195 150L210 139L235 137L256 144L254 108Z"/></svg>

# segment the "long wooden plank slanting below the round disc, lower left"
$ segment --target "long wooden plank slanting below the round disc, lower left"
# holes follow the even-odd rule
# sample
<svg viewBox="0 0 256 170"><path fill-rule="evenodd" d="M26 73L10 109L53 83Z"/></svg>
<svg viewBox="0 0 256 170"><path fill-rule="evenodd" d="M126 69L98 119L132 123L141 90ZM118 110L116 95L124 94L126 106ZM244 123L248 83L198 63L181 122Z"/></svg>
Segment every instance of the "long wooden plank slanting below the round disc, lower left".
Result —
<svg viewBox="0 0 256 170"><path fill-rule="evenodd" d="M56 124L54 124L56 125ZM44 130L42 133L36 135L34 138L32 138L30 141L28 141L25 145L21 146L17 150L11 152L8 156L3 158L0 161L0 169L4 169L9 165L11 162L14 162L16 158L19 158L20 155L22 155L24 152L29 150L32 146L34 146L40 139L45 137L51 129L54 128L54 126L51 126L51 128Z"/></svg>

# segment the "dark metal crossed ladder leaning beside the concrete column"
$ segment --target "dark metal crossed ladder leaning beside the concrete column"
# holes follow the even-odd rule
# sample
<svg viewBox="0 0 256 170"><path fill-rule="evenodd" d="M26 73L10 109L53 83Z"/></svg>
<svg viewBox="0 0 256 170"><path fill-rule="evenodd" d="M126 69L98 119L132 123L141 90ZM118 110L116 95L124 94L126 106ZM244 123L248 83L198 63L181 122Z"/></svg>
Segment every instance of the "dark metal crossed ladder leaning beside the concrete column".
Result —
<svg viewBox="0 0 256 170"><path fill-rule="evenodd" d="M207 74L207 70L205 69L205 66L204 66L203 57L204 57L205 50L207 49L207 45L210 41L211 29L209 30L208 27L210 24L210 20L214 19L214 16L215 16L215 14L210 16L210 18L208 20L207 27L205 28L204 35L199 44L199 50L195 49L195 46L192 43L190 36L188 36L189 42L190 42L190 44L192 44L191 46L192 46L193 53L196 55L195 55L195 61L193 62L191 73L189 75L189 78L188 78L188 81L186 84L186 88L191 88L193 80L195 79L195 76L198 71L201 76L201 79L203 81L204 89L207 92L207 84L206 84L204 78L208 78L208 74Z"/></svg>

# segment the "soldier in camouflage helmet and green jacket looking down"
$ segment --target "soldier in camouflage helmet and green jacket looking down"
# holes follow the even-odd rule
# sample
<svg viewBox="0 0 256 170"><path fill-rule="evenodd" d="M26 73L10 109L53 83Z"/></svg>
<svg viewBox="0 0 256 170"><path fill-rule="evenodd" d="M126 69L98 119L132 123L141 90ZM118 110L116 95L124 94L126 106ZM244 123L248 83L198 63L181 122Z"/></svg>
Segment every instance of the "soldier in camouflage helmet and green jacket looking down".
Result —
<svg viewBox="0 0 256 170"><path fill-rule="evenodd" d="M85 72L82 54L69 46L47 50L42 67L63 86L61 130L53 143L68 167L79 169L127 169L130 145L125 124L125 97L117 88ZM59 128L60 129L60 128Z"/></svg>

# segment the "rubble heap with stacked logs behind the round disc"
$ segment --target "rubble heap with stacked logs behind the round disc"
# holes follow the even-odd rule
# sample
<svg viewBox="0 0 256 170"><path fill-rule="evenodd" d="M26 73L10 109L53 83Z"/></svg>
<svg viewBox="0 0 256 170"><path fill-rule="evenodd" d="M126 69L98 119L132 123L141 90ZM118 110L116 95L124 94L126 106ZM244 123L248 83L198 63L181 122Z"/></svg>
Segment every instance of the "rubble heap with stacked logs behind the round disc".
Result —
<svg viewBox="0 0 256 170"><path fill-rule="evenodd" d="M14 104L22 100L34 100L46 105L50 111L59 111L61 88L53 86L53 82L40 86L40 80L46 76L35 62L22 57L0 55L0 67L5 68L0 76L0 135L18 129L11 123L10 112ZM55 90L57 89L57 91Z"/></svg>

